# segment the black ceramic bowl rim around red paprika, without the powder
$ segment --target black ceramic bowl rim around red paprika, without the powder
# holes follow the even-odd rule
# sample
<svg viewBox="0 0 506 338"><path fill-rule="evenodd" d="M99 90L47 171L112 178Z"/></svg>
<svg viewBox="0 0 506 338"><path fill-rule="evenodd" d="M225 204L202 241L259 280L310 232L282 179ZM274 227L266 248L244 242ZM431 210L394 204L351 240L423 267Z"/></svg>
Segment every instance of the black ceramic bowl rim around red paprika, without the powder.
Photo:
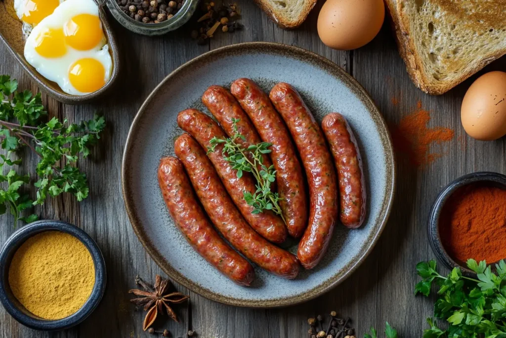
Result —
<svg viewBox="0 0 506 338"><path fill-rule="evenodd" d="M439 236L439 217L444 204L455 191L462 186L475 183L497 186L506 190L506 176L496 172L484 171L461 176L448 184L445 189L439 193L436 202L434 202L432 206L431 215L429 217L429 241L436 257L450 270L459 267L462 270L462 274L466 276L476 276L476 274L466 267L465 262L455 261L446 252L441 243L441 237Z"/></svg>

